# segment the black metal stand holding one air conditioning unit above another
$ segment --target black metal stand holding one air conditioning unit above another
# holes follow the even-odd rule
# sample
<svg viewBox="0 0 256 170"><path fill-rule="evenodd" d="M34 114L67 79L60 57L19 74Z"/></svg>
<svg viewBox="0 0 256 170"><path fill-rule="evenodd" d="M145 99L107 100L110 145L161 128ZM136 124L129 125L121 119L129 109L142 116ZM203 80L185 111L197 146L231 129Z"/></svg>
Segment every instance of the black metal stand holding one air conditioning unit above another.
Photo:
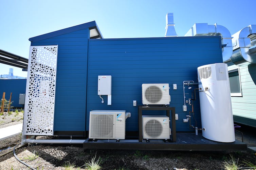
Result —
<svg viewBox="0 0 256 170"><path fill-rule="evenodd" d="M175 122L175 107L168 106L138 106L138 120L139 120L139 142L142 142L142 111L166 111L166 116L170 118L172 124L172 142L176 142L176 122Z"/></svg>

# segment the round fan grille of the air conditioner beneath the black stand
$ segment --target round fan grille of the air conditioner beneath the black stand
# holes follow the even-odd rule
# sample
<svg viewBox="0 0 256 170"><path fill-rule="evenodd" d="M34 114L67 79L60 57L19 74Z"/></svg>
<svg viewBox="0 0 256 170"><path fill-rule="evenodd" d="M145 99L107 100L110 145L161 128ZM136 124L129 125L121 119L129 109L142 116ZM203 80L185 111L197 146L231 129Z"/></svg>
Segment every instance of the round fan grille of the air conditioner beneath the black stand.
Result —
<svg viewBox="0 0 256 170"><path fill-rule="evenodd" d="M160 121L151 119L144 126L145 133L150 138L157 138L162 134L163 126Z"/></svg>

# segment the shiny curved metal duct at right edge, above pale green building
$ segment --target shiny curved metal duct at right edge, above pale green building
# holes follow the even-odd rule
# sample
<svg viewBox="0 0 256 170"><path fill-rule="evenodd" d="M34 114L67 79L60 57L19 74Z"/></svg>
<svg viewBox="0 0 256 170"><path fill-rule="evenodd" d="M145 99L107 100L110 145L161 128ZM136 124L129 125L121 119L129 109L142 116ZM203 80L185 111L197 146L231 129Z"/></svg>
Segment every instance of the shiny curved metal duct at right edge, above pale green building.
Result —
<svg viewBox="0 0 256 170"><path fill-rule="evenodd" d="M233 34L231 61L241 67L256 63L256 25L249 25Z"/></svg>

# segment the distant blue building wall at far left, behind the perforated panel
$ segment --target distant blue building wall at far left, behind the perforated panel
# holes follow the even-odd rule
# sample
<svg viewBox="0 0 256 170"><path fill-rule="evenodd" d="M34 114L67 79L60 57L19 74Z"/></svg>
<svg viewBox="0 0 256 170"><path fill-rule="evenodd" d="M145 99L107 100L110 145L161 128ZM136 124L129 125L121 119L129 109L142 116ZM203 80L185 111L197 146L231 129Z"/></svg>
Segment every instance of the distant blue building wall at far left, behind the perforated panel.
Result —
<svg viewBox="0 0 256 170"><path fill-rule="evenodd" d="M10 94L12 92L12 106L23 107L19 104L19 95L26 93L26 79L0 79L0 98L2 98L3 92L5 92L5 99L10 100Z"/></svg>

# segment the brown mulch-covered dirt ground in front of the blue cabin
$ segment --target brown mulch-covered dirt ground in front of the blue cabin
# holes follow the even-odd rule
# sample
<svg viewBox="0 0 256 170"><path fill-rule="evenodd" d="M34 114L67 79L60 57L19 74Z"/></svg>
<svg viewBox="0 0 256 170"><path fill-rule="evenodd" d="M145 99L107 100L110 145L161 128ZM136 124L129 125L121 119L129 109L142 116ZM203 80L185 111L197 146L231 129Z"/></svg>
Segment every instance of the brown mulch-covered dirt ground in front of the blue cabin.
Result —
<svg viewBox="0 0 256 170"><path fill-rule="evenodd" d="M13 125L13 122L11 124ZM2 126L0 125L0 127ZM256 147L256 128L242 125L238 130L243 132L244 142L248 143L248 146ZM37 137L37 139L45 138L47 137ZM239 132L236 132L236 140L241 141L241 134ZM13 146L20 142L21 135L0 141L0 149L11 147L0 152L1 170L28 169L28 167L18 162L13 156ZM65 170L67 169L65 168L65 164L68 163L74 163L74 169L86 169L84 166L85 163L90 162L93 157L101 161L100 165L102 169L110 170L220 170L223 169L223 162L230 160L231 155L235 157L235 161L238 161L238 165L243 167L243 169L249 169L246 168L249 165L244 162L250 162L256 165L256 155L250 151L85 151L82 145L29 144L26 147L16 149L16 154L20 160L39 170Z"/></svg>

